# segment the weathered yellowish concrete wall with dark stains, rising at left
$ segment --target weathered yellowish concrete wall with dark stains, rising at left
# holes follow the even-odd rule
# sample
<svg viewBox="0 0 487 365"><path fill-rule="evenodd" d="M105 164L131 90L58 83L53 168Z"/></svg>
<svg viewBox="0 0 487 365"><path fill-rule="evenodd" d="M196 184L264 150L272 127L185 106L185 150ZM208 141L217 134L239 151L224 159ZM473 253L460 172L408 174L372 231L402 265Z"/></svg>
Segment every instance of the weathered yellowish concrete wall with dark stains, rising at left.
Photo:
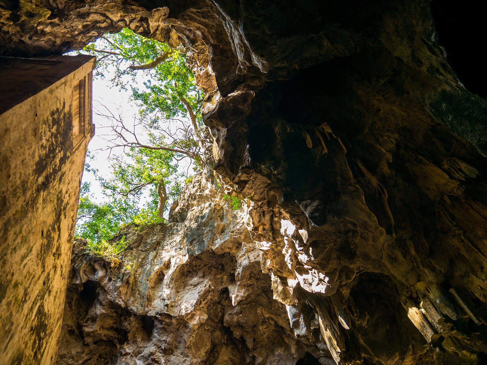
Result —
<svg viewBox="0 0 487 365"><path fill-rule="evenodd" d="M92 61L1 63L1 364L56 360L81 175L94 134Z"/></svg>

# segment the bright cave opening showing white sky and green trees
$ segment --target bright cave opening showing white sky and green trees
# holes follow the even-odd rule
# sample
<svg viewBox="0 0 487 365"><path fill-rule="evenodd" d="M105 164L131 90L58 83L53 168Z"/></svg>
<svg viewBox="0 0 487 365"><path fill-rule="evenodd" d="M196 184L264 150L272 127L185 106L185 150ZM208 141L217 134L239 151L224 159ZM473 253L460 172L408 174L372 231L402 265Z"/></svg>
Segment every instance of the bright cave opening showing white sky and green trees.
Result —
<svg viewBox="0 0 487 365"><path fill-rule="evenodd" d="M118 230L167 222L170 205L207 164L205 90L181 43L128 28L68 54L96 57L98 133L88 148L75 233L88 250L116 256L126 248L122 236L115 240Z"/></svg>

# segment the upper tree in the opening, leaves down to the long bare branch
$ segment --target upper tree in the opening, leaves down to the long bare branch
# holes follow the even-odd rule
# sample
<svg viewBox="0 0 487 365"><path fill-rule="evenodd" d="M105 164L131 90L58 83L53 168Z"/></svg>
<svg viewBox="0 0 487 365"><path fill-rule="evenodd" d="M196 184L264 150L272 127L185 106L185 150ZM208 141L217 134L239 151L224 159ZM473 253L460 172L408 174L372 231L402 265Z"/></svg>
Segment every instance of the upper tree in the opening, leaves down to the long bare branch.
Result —
<svg viewBox="0 0 487 365"><path fill-rule="evenodd" d="M192 159L202 158L205 144L201 133L203 91L196 86L181 48L171 50L167 44L125 28L118 34L103 36L99 45L89 44L84 51L99 56L96 74L100 77L106 77L107 70L115 65L111 81L116 86L127 88L137 72L148 76L144 82L146 90L131 86L131 91L140 107L140 118L134 125L146 127L150 143L141 142L133 125L130 128L120 115L113 115L108 108L98 110L112 122L113 146L176 149ZM123 79L123 75L129 76L129 81ZM178 127L169 128L171 123Z"/></svg>

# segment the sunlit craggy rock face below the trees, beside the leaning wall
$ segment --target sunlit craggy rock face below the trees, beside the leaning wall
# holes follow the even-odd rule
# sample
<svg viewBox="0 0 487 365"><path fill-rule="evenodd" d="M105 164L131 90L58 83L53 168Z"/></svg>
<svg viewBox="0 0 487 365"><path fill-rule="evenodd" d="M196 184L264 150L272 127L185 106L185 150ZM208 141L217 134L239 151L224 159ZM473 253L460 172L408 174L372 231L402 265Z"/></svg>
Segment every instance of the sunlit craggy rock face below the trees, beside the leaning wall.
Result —
<svg viewBox="0 0 487 365"><path fill-rule="evenodd" d="M193 179L180 221L124 228L122 263L75 243L57 364L334 364L309 318L273 299L245 207L211 180Z"/></svg>

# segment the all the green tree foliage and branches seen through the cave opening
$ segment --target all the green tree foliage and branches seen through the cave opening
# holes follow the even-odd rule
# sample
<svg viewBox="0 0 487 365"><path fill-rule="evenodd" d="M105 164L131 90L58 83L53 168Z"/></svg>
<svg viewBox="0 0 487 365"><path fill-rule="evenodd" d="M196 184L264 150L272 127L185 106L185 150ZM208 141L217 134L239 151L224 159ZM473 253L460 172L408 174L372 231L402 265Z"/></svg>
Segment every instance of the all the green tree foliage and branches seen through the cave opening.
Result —
<svg viewBox="0 0 487 365"><path fill-rule="evenodd" d="M207 143L201 131L204 94L187 67L182 47L171 49L129 29L106 34L80 53L95 55L95 77L130 90L139 110L132 120L122 117L122 106L117 107L118 113L107 105L94 110L109 129L112 177L105 179L86 164L86 170L97 176L106 200L95 203L89 185L83 184L76 235L101 242L125 224L164 221L168 198L177 198L189 175L178 169L180 161L190 159L192 170L201 169ZM144 88L133 83L140 73ZM113 149L117 151L112 153ZM137 203L142 196L149 196L149 202L140 208Z"/></svg>

